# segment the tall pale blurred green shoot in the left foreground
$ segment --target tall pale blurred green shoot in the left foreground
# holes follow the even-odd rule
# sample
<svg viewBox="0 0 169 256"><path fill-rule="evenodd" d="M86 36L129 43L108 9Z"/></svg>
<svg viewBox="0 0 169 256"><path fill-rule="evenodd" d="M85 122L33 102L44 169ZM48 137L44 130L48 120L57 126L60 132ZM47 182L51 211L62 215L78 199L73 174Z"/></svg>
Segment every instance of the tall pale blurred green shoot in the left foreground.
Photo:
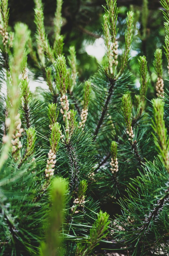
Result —
<svg viewBox="0 0 169 256"><path fill-rule="evenodd" d="M7 153L9 151L10 141L15 125L15 117L18 114L20 103L19 74L21 73L22 65L25 60L25 45L29 35L30 33L26 25L23 23L17 23L15 25L15 37L13 43L14 51L13 56L10 56L11 84L7 83L8 95L10 96L10 109L8 110L10 116L10 126L8 134L4 137L6 144L0 157L0 169L3 166L5 159L7 158Z"/></svg>

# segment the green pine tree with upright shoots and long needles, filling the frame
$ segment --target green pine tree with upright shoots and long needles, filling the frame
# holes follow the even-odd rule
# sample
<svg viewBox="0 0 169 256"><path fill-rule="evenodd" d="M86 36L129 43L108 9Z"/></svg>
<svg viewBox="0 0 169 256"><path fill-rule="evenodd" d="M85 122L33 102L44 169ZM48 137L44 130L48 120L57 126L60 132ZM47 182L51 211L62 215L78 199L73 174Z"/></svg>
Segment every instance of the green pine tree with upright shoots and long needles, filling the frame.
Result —
<svg viewBox="0 0 169 256"><path fill-rule="evenodd" d="M34 3L35 46L25 24L8 33L8 1L1 1L0 71L7 95L0 98L0 255L168 255L163 49L154 53L156 93L149 103L146 57L138 59L139 90L127 65L134 13L127 13L120 56L117 3L106 0L106 61L83 84L75 48L67 57L63 53L62 1L57 0L52 44L43 3ZM169 62L168 0L162 6ZM35 79L43 77L47 90L30 91L29 70Z"/></svg>

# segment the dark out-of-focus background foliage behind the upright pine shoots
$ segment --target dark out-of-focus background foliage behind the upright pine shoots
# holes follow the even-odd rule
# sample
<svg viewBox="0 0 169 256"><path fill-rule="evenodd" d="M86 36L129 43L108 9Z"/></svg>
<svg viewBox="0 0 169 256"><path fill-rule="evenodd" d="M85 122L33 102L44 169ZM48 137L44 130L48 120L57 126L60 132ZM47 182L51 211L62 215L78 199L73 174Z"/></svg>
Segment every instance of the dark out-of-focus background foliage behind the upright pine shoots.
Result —
<svg viewBox="0 0 169 256"><path fill-rule="evenodd" d="M54 40L53 19L56 9L56 0L44 0L45 29L49 42ZM118 42L119 54L122 54L124 47L125 18L128 10L135 13L135 29L131 58L128 67L136 76L136 89L139 88L138 57L145 55L148 61L149 89L147 98L150 100L155 95L156 74L153 68L153 58L156 48L163 51L164 45L164 18L162 7L158 0L117 0L119 7L118 15ZM102 21L105 1L104 0L64 0L62 8L62 29L64 36L64 54L69 55L68 49L74 45L77 52L77 64L80 81L87 80L97 70L100 62L104 63L104 41ZM34 24L34 2L33 0L9 0L11 28L17 21L22 21L29 26L32 33L32 41L35 44ZM28 65L33 67L31 58L28 58ZM168 79L167 61L163 51L163 78ZM38 74L37 74L38 77ZM164 81L165 88L168 82Z"/></svg>

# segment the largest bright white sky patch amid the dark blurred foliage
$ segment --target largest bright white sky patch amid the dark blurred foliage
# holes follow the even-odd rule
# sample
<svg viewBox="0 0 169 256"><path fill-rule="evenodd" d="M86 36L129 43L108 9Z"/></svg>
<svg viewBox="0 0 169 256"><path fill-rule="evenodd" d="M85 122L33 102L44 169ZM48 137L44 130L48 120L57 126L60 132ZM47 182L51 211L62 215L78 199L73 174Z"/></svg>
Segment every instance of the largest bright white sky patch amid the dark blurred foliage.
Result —
<svg viewBox="0 0 169 256"><path fill-rule="evenodd" d="M106 52L104 39L100 37L92 45L85 44L85 51L88 55L94 56L98 61L102 61Z"/></svg>

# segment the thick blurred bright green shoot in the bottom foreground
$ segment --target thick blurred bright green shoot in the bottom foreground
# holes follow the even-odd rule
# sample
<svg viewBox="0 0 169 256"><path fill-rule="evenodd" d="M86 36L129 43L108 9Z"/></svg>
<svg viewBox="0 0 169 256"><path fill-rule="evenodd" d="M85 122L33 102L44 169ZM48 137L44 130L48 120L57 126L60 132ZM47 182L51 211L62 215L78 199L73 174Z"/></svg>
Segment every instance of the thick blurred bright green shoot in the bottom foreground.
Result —
<svg viewBox="0 0 169 256"><path fill-rule="evenodd" d="M46 241L41 244L40 256L59 255L58 249L61 243L60 229L63 222L63 209L67 182L61 178L55 178L50 188L52 209L49 220L46 221Z"/></svg>

